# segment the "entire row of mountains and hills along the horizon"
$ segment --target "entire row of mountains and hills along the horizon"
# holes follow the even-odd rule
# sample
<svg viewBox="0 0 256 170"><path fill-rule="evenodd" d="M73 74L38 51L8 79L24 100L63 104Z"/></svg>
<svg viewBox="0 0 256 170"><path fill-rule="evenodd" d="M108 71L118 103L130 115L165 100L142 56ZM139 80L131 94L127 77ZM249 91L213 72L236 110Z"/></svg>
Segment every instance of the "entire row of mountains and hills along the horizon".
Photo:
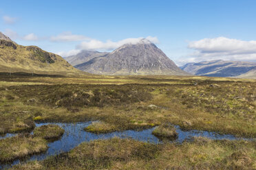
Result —
<svg viewBox="0 0 256 170"><path fill-rule="evenodd" d="M0 32L0 72L74 75L85 73L83 71L102 75L193 74L256 79L256 62L212 60L188 63L179 68L147 39L122 45L111 53L81 51L64 60L36 46L18 45Z"/></svg>

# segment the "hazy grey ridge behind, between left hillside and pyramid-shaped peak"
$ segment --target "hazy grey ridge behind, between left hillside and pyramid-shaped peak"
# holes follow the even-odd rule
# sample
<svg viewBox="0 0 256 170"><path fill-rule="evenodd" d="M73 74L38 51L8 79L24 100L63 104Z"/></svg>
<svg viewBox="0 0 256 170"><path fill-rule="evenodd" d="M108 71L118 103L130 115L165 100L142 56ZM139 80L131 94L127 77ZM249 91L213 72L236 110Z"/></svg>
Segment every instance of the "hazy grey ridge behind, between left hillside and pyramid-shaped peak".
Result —
<svg viewBox="0 0 256 170"><path fill-rule="evenodd" d="M107 54L106 52L101 53L98 51L85 51L84 50L74 56L69 56L64 59L67 60L67 62L69 62L70 64L72 64L72 66L75 66L75 65L87 62L87 61L91 60L92 58L97 58L100 56L104 56L106 54Z"/></svg>

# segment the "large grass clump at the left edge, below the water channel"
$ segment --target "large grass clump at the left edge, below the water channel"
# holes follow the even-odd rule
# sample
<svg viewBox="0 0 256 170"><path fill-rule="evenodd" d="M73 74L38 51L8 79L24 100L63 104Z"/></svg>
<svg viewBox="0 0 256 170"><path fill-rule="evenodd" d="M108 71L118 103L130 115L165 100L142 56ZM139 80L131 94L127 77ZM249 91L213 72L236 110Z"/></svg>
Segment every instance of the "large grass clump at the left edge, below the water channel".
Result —
<svg viewBox="0 0 256 170"><path fill-rule="evenodd" d="M30 134L0 140L0 162L8 162L47 150L47 141Z"/></svg>

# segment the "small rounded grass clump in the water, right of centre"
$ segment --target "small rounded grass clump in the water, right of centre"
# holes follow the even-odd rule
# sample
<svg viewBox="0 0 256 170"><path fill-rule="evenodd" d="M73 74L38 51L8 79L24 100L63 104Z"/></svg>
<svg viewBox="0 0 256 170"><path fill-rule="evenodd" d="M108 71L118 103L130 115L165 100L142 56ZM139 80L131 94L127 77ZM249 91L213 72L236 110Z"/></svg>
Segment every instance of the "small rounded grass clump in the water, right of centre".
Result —
<svg viewBox="0 0 256 170"><path fill-rule="evenodd" d="M178 136L175 127L169 124L159 125L153 130L152 134L162 138L176 138Z"/></svg>

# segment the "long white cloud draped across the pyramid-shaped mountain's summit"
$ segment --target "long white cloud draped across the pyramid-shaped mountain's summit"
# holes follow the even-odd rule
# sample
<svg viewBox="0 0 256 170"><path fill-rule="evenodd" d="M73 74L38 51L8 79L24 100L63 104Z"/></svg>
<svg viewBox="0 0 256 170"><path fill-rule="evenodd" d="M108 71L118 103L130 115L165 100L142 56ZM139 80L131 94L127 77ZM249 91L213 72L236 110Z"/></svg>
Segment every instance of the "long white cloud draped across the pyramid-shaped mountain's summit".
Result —
<svg viewBox="0 0 256 170"><path fill-rule="evenodd" d="M143 40L145 39L145 40ZM87 41L83 41L81 42L80 45L77 46L78 49L85 49L85 50L112 50L112 49L116 49L122 45L125 44L137 44L138 42L140 42L141 40L143 40L143 42L145 43L158 43L158 38L156 37L151 37L148 36L147 38L127 38L124 40L119 40L119 41L111 41L111 40L107 40L106 42L100 41L100 40L87 40Z"/></svg>

